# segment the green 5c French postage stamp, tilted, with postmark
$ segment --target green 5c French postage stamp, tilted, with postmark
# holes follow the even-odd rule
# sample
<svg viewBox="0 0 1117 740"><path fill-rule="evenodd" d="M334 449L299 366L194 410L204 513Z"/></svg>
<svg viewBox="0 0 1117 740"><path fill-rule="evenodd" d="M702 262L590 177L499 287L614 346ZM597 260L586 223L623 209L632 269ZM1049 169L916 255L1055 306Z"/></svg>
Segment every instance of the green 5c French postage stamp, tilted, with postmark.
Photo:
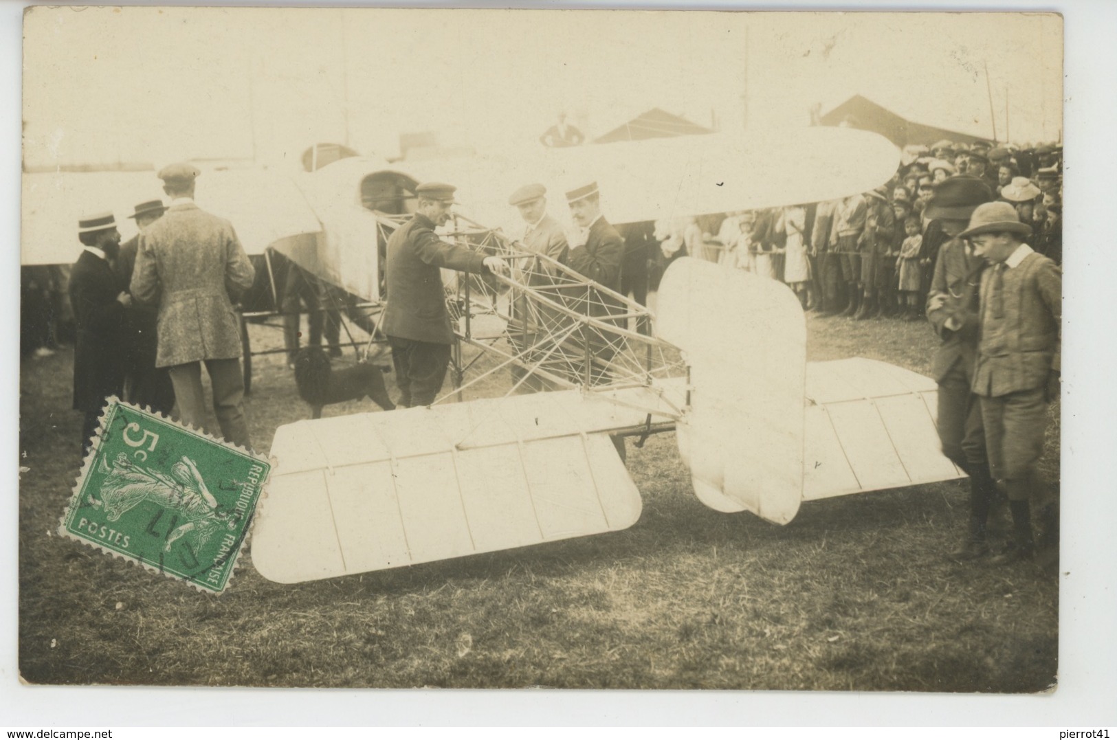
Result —
<svg viewBox="0 0 1117 740"><path fill-rule="evenodd" d="M241 448L109 398L58 534L219 594L270 468Z"/></svg>

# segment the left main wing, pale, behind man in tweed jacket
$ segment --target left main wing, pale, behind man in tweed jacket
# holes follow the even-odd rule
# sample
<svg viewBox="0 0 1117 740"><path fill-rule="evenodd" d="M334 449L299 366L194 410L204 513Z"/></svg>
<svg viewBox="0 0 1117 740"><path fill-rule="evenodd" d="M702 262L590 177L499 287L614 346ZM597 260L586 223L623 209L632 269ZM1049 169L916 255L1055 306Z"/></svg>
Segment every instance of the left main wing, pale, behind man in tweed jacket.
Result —
<svg viewBox="0 0 1117 740"><path fill-rule="evenodd" d="M21 263L67 265L77 259L78 219L113 211L122 239L136 233L127 218L136 203L162 198L152 171L32 172L23 174ZM270 244L322 230L314 210L294 181L262 169L203 171L198 205L228 219L245 251L261 254Z"/></svg>

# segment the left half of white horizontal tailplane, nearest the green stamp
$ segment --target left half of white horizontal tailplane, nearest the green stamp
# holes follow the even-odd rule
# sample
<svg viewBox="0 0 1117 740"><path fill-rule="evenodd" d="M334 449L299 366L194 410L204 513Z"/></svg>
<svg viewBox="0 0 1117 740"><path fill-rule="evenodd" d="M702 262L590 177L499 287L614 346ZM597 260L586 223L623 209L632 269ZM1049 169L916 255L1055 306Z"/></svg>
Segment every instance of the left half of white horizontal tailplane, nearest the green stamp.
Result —
<svg viewBox="0 0 1117 740"><path fill-rule="evenodd" d="M280 426L252 565L297 583L626 529L640 494L608 432L670 419L661 398L561 391Z"/></svg>

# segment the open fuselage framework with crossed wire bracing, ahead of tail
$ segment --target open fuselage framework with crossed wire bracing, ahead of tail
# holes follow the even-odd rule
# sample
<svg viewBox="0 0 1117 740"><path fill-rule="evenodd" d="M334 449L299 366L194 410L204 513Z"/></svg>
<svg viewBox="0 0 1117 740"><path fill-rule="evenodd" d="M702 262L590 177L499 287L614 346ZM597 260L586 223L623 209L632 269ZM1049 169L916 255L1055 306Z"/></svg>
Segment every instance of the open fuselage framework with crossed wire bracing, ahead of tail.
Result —
<svg viewBox="0 0 1117 740"><path fill-rule="evenodd" d="M376 215L385 242L408 218ZM507 394L525 384L604 390L686 375L678 348L650 336L655 317L646 307L462 217L456 217L446 238L503 258L510 272L458 272L445 281L447 309L460 340L451 368L457 387L436 403L512 367L522 372L512 373ZM470 356L460 345L479 352ZM486 356L495 365L479 362Z"/></svg>

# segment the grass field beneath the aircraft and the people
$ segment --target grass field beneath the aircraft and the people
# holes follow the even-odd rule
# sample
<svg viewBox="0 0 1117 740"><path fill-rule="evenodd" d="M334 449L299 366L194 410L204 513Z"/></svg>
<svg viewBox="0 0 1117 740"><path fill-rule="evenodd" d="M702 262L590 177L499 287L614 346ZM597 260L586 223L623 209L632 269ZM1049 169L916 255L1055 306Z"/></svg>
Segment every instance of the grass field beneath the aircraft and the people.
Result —
<svg viewBox="0 0 1117 740"><path fill-rule="evenodd" d="M935 344L924 323L811 318L808 333L809 359L923 373ZM1056 680L1057 579L945 557L965 482L812 502L776 527L699 503L670 434L629 445L643 515L628 530L297 586L265 580L248 556L225 595L199 594L54 534L79 467L70 382L69 352L21 368L31 683L1033 692ZM281 355L256 358L248 412L261 450L307 416Z"/></svg>

